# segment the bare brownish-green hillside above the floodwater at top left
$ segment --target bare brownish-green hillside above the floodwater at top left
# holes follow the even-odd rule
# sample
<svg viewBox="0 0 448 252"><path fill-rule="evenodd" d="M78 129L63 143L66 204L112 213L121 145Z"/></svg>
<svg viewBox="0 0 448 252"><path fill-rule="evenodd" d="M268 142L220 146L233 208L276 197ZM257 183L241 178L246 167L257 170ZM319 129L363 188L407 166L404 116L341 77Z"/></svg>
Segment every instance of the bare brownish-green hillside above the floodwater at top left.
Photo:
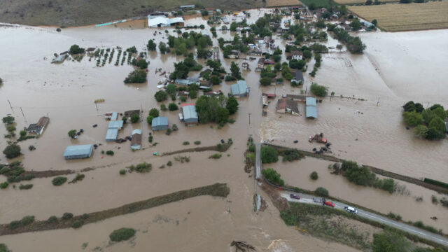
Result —
<svg viewBox="0 0 448 252"><path fill-rule="evenodd" d="M295 0L295 4L298 3ZM52 0L52 1L0 1L0 22L20 25L56 25L83 26L95 25L112 20L146 16L155 10L178 10L181 5L202 3L206 8L220 8L221 10L241 10L260 8L262 1L221 1L221 0Z"/></svg>

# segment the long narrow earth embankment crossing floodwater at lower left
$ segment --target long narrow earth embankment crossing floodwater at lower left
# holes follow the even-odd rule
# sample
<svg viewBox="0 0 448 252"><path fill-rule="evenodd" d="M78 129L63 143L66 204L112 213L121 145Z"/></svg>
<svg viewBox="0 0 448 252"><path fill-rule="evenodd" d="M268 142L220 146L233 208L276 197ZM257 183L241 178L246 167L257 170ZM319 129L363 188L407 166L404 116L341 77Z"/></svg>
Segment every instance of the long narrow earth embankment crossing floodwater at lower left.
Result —
<svg viewBox="0 0 448 252"><path fill-rule="evenodd" d="M82 216L73 216L73 218L69 218L69 220L63 220L62 218L57 218L57 221L52 223L50 223L49 221L34 221L29 225L20 225L18 228L15 229L9 228L9 224L2 224L0 225L0 236L19 234L23 232L36 232L43 230L71 228L73 226L73 223L76 222L80 222L81 225L87 223L95 223L97 221L103 221L107 218L113 218L123 214L132 214L134 212L141 211L144 209L158 207L162 204L177 202L179 200L186 200L190 197L197 197L202 195L210 195L214 197L227 197L229 193L230 188L228 188L227 184L215 183L210 186L203 186L200 188L193 188L189 190L181 190L176 193L170 193L168 195L153 197L148 200L142 200L139 202L125 204L121 207L117 207L114 209L97 211Z"/></svg>

